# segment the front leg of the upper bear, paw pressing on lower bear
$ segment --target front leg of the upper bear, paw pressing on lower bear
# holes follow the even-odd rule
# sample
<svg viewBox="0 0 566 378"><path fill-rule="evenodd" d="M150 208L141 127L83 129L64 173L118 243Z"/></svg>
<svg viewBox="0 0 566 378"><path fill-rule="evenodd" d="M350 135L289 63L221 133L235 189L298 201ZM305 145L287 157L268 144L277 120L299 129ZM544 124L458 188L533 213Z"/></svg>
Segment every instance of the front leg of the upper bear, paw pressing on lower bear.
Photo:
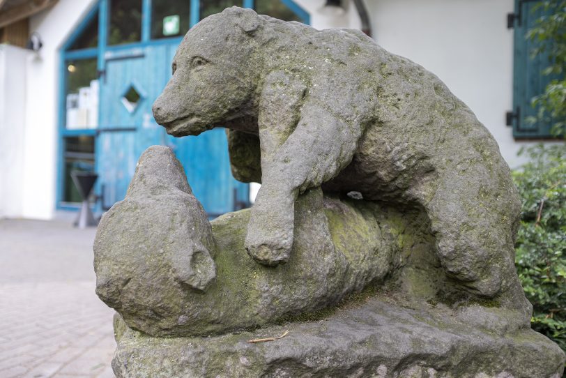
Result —
<svg viewBox="0 0 566 378"><path fill-rule="evenodd" d="M245 247L261 264L273 266L289 259L298 194L334 178L352 159L361 127L331 111L309 100L296 129L271 156L263 151L260 123L262 186L252 207Z"/></svg>

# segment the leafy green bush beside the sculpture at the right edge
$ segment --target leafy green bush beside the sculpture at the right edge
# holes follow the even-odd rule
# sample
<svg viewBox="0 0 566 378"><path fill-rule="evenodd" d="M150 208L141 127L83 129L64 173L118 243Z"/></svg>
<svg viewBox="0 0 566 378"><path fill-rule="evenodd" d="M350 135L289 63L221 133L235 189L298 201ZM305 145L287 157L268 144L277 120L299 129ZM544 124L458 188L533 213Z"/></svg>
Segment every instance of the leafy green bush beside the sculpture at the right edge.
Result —
<svg viewBox="0 0 566 378"><path fill-rule="evenodd" d="M523 201L515 264L531 324L566 351L566 147L534 146L513 172Z"/></svg>

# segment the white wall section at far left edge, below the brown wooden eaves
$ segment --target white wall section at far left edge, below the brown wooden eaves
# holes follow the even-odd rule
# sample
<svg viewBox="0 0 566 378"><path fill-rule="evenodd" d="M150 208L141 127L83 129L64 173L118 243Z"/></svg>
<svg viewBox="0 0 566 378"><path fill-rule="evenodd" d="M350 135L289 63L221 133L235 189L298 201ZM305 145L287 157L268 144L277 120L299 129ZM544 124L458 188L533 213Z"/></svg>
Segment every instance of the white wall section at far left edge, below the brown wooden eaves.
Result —
<svg viewBox="0 0 566 378"><path fill-rule="evenodd" d="M0 218L22 216L26 59L29 50L0 45Z"/></svg>

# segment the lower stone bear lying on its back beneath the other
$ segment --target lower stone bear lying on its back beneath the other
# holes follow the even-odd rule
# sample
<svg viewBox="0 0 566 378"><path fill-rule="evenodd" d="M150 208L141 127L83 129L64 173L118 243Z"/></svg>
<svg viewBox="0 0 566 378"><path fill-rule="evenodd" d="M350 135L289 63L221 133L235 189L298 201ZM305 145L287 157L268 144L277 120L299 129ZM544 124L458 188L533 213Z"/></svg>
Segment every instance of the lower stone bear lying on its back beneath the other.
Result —
<svg viewBox="0 0 566 378"><path fill-rule="evenodd" d="M324 202L320 189L298 199L293 259L261 266L243 247L250 211L229 213L211 228L174 153L153 146L124 201L98 227L96 292L150 335L217 334L325 308L383 279L407 246L398 243L406 227L400 213ZM426 227L411 232L426 239Z"/></svg>

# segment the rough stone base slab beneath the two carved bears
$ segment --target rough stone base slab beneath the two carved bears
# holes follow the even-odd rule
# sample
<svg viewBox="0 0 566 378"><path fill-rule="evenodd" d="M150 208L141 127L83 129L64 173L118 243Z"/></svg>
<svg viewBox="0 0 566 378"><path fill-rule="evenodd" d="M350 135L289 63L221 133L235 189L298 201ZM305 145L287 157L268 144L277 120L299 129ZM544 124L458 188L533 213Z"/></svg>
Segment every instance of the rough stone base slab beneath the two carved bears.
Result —
<svg viewBox="0 0 566 378"><path fill-rule="evenodd" d="M324 320L210 338L153 338L116 315L117 377L553 377L565 355L503 310L372 298ZM247 340L282 335L252 344Z"/></svg>

